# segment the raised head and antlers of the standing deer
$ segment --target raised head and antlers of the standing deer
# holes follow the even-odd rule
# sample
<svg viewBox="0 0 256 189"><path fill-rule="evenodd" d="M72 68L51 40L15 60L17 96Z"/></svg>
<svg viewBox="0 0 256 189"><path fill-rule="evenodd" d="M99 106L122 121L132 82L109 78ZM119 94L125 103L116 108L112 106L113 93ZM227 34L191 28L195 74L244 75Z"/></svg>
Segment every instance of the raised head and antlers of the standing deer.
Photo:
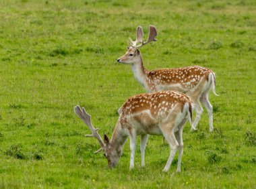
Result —
<svg viewBox="0 0 256 189"><path fill-rule="evenodd" d="M157 36L156 27L154 25L150 25L148 33L148 40L146 42L143 41L143 29L141 26L137 27L137 33L136 33L136 40L133 41L131 38L129 38L129 47L127 47L127 52L124 56L121 56L117 59L117 62L123 63L123 64L134 64L136 62L141 61L141 54L139 52L139 48L142 46L145 46L146 44L149 44L150 42L156 42L155 39ZM137 45L140 43L139 45Z"/></svg>

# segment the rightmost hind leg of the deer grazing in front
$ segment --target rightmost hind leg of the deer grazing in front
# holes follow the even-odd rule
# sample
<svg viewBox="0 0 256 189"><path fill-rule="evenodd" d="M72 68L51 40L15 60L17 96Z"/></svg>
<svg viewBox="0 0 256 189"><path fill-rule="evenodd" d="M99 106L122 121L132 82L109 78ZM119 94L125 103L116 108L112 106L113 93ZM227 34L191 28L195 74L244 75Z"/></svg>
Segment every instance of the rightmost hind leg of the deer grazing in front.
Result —
<svg viewBox="0 0 256 189"><path fill-rule="evenodd" d="M179 125L179 131L175 132L175 137L179 143L178 147L178 166L177 166L177 171L176 172L181 172L181 158L183 155L183 138L182 138L182 133L183 133L183 128L186 123L187 119L184 119L181 124Z"/></svg>

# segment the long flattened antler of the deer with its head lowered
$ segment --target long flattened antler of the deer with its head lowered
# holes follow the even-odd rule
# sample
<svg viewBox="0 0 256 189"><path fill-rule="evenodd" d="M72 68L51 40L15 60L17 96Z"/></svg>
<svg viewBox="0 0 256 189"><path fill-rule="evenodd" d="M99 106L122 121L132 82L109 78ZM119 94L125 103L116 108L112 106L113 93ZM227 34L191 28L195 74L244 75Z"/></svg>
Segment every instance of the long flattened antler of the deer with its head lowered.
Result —
<svg viewBox="0 0 256 189"><path fill-rule="evenodd" d="M86 135L86 137L95 137L96 139L98 139L99 143L100 143L100 147L101 149L104 147L104 142L102 141L102 138L100 137L100 135L98 134L98 129L94 128L94 126L92 126L92 122L91 122L91 116L86 112L86 109L84 109L84 107L81 109L79 107L79 105L77 105L74 108L75 114L82 119L82 121L84 121L84 123L89 127L89 129L92 131L92 134L90 135Z"/></svg>

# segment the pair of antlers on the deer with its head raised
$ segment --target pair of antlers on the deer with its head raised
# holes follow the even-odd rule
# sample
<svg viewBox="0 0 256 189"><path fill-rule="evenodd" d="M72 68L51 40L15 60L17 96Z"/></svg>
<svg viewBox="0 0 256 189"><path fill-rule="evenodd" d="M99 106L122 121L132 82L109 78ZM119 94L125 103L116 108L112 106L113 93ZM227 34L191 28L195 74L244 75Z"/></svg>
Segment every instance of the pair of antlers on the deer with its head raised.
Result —
<svg viewBox="0 0 256 189"><path fill-rule="evenodd" d="M157 35L158 35L158 32L156 30L156 27L154 27L154 25L150 25L149 33L148 33L148 40L146 42L144 42L142 40L142 38L143 38L142 27L139 26L137 28L137 39L135 40L135 42L133 42L131 40L131 38L129 38L129 40L130 40L129 45L132 46L133 48L141 48L142 46L145 46L146 44L148 44L150 42L156 42L157 39L155 39L155 38ZM137 43L141 43L141 44L137 46Z"/></svg>

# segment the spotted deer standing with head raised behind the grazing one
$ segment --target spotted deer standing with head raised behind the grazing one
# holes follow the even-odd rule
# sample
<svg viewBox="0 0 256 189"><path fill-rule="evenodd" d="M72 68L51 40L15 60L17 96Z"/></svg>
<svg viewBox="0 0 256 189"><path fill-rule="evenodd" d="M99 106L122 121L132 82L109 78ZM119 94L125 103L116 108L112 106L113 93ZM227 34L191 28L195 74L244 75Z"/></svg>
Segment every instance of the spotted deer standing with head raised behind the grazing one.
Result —
<svg viewBox="0 0 256 189"><path fill-rule="evenodd" d="M197 127L197 123L203 113L203 108L200 102L207 110L209 117L209 129L214 130L213 127L213 108L208 99L208 92L212 89L215 95L215 74L208 68L201 66L189 66L184 68L170 68L160 70L146 70L142 63L141 53L139 48L145 46L150 42L157 41L156 27L150 25L148 40L143 41L142 27L137 27L136 40L133 42L129 38L130 47L124 56L117 59L117 62L123 64L131 64L131 69L135 78L145 88L147 92L156 92L162 90L175 90L187 94L191 98L193 109L195 109L196 117L193 123L193 128ZM137 45L137 43L140 43Z"/></svg>

